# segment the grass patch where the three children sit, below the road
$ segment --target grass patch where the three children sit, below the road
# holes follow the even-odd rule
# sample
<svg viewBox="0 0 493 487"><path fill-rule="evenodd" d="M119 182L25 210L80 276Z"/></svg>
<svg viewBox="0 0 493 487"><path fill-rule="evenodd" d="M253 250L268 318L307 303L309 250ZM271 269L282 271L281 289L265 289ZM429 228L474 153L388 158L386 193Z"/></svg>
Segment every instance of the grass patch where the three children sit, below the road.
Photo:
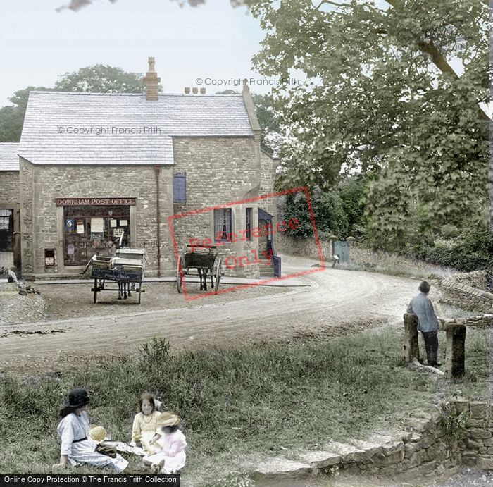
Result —
<svg viewBox="0 0 493 487"><path fill-rule="evenodd" d="M58 410L74 386L91 392L92 422L120 440L130 440L136 397L144 391L180 414L189 443L184 485L204 485L207 477L219 474L227 479L225 469L241 475L247 463L285 454L285 448L317 448L330 438L385 431L411 410L435 403L439 393L487 395L487 331L468 329L467 374L454 386L408 370L401 343L402 330L396 326L323 342L262 343L178 355L170 353L166 341L153 340L138 359L116 365L63 376L4 376L0 471L51 470L59 456ZM100 470L82 466L67 471Z"/></svg>

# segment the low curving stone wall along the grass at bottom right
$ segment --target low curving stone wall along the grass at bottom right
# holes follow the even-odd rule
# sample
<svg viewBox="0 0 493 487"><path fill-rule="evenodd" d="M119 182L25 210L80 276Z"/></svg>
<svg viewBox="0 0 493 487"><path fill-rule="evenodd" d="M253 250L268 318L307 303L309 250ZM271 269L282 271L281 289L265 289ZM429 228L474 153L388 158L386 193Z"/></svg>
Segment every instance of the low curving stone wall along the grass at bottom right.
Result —
<svg viewBox="0 0 493 487"><path fill-rule="evenodd" d="M335 471L361 476L423 476L448 478L461 465L493 469L493 405L461 397L446 404L451 417L463 414L464 429L453 440L442 427L440 407L416 412L402 431L374 434L367 440L331 441L323 450L272 457L258 465L255 479L275 481Z"/></svg>

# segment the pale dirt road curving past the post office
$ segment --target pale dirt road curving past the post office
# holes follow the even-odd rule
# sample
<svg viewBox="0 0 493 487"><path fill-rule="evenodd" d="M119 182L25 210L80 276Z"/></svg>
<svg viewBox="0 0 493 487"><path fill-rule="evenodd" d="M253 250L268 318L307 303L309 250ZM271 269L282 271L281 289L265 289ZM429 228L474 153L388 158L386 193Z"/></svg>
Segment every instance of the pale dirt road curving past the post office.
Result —
<svg viewBox="0 0 493 487"><path fill-rule="evenodd" d="M283 260L283 270L299 272L314 263L289 257ZM154 336L188 348L358 331L400 319L418 286L407 278L339 269L304 279L309 287L260 297L238 292L238 299L229 302L215 303L211 297L192 306L139 309L124 316L2 326L0 371L43 374L114 362L131 357L139 344Z"/></svg>

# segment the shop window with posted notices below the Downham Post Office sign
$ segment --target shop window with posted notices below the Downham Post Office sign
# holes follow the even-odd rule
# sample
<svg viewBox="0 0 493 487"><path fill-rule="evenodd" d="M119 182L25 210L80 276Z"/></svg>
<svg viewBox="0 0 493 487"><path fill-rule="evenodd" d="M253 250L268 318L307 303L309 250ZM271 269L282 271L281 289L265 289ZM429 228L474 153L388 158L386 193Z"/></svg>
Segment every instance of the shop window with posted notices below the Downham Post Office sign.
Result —
<svg viewBox="0 0 493 487"><path fill-rule="evenodd" d="M130 247L130 206L64 206L63 224L65 266Z"/></svg>

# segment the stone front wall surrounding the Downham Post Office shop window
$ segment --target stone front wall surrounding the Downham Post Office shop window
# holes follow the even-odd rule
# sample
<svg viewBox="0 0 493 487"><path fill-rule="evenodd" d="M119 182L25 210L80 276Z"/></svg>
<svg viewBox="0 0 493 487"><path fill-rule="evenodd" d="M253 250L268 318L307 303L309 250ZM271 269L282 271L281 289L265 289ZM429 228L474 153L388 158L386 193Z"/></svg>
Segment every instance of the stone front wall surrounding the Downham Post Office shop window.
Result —
<svg viewBox="0 0 493 487"><path fill-rule="evenodd" d="M168 216L173 214L173 168L161 166L161 271L174 275L173 245ZM44 249L56 249L56 266L51 272L78 273L63 269L63 239L57 217L56 198L135 197L136 235L132 246L145 247L146 274L157 273L156 175L154 166L48 166L20 160L21 252L23 276L45 274ZM60 252L60 249L62 252Z"/></svg>

